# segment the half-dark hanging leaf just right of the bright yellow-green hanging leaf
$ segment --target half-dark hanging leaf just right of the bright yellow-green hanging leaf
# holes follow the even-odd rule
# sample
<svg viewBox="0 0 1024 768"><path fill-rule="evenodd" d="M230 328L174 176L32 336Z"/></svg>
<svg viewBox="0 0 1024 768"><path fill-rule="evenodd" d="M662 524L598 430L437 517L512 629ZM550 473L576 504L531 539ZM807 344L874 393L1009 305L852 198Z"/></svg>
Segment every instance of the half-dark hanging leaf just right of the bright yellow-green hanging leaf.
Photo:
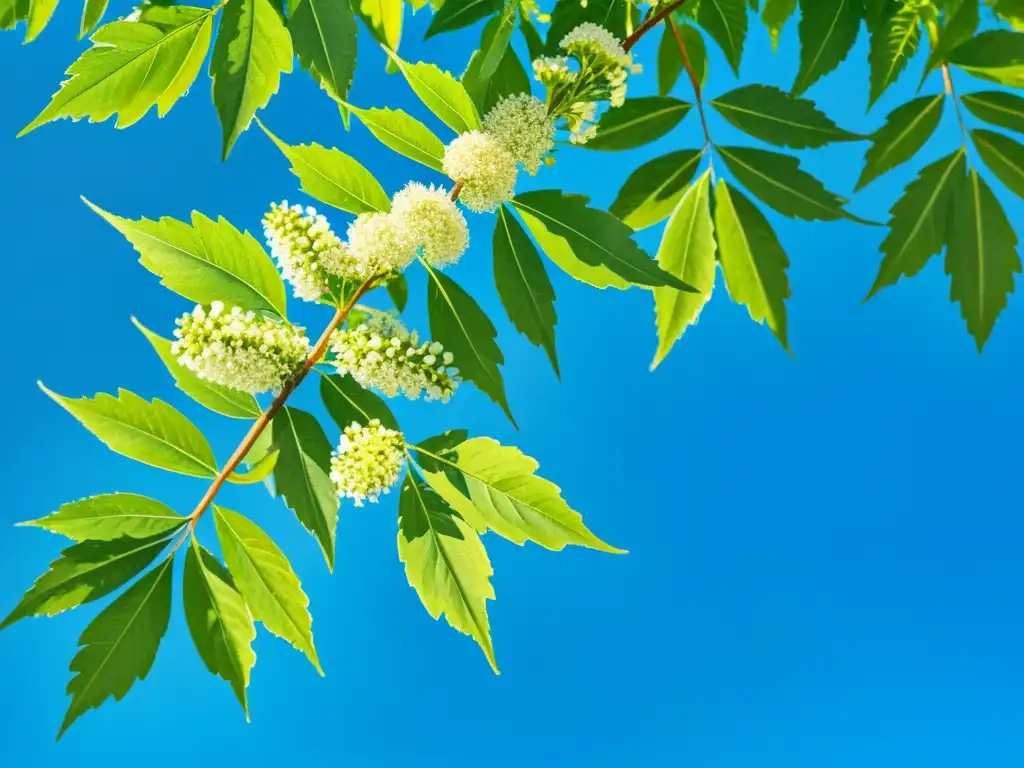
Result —
<svg viewBox="0 0 1024 768"><path fill-rule="evenodd" d="M754 322L767 322L788 350L784 302L791 296L785 275L790 260L764 214L724 179L715 189L715 237L729 296L746 306Z"/></svg>

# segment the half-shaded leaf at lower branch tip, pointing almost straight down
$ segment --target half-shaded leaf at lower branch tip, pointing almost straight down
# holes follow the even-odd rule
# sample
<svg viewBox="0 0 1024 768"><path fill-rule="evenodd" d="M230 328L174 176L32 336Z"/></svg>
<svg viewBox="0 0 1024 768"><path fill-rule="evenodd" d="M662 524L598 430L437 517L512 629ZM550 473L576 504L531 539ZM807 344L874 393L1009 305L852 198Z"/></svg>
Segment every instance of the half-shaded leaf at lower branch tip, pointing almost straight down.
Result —
<svg viewBox="0 0 1024 768"><path fill-rule="evenodd" d="M303 0L308 2L309 0ZM185 621L211 675L231 686L249 721L249 674L256 664L256 627L230 573L193 537L181 585Z"/></svg>

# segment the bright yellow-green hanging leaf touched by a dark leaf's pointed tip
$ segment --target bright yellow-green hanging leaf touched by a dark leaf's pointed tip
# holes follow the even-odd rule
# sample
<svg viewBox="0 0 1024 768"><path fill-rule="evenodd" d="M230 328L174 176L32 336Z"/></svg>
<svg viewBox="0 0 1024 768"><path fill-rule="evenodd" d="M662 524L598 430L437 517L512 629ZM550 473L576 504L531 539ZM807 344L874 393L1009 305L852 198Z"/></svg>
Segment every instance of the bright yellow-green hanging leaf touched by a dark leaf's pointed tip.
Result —
<svg viewBox="0 0 1024 768"><path fill-rule="evenodd" d="M686 329L697 322L715 288L715 227L711 218L711 171L705 171L683 195L666 224L657 262L698 293L654 289L657 351L651 370L672 350Z"/></svg>

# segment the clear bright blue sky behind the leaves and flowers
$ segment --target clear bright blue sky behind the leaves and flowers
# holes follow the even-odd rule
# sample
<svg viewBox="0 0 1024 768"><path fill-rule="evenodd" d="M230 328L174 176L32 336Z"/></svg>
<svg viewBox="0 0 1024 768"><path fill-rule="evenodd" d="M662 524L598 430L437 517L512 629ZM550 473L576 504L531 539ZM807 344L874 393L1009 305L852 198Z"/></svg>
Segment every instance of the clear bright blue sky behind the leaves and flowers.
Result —
<svg viewBox="0 0 1024 768"><path fill-rule="evenodd" d="M83 47L74 40L79 12L63 4L25 48L16 35L0 38L4 525L117 489L187 511L203 489L111 454L39 392L37 379L66 394L122 386L166 398L202 425L220 457L244 430L173 387L129 315L167 334L187 305L135 263L79 195L130 217L184 218L196 208L254 232L269 201L300 198L257 130L219 162L205 75L165 120L150 115L126 131L62 122L15 141ZM461 72L477 31L424 45L426 24L425 12L411 24L407 57ZM381 52L360 42L353 101L386 101L429 121L404 83L384 75ZM811 92L857 130L910 97L921 66L865 118L864 42ZM791 28L773 56L755 27L745 78L788 86L795 43ZM634 93L654 90L654 50L639 49L648 74ZM731 87L716 49L709 93ZM928 88L937 87L935 76ZM688 97L682 84L680 94ZM431 180L360 126L345 133L303 73L284 79L264 119L288 141L354 155L389 191ZM712 130L721 142L738 138L715 118ZM529 184L587 193L606 207L642 160L696 145L698 134L691 115L643 151L563 152ZM940 135L946 147L956 140L948 122ZM808 154L806 167L849 194L865 146ZM933 147L872 185L854 210L885 218L901 185L940 150L949 151ZM999 194L1024 224L1021 204ZM230 488L224 501L278 537L301 574L327 678L261 631L246 725L228 687L203 668L175 604L148 678L54 745L68 663L98 606L23 622L0 634L3 762L1020 765L1024 305L1012 298L979 357L939 260L862 305L882 229L771 219L793 261L793 357L720 285L699 325L650 374L649 294L596 291L552 268L561 383L505 317L490 280L492 222L474 220L473 246L453 275L498 326L522 431L472 387L446 407L399 403L403 427L415 439L466 426L519 445L596 532L630 550L551 553L486 537L501 677L471 641L431 621L406 584L394 497L344 508L329 577L290 512L261 487ZM343 228L346 218L334 221ZM641 242L656 246L652 233ZM422 325L422 274L412 286L410 318ZM300 317L322 325L327 311L306 306ZM315 391L298 398L316 408ZM208 525L203 537L213 538ZM60 546L43 531L6 528L5 610Z"/></svg>

